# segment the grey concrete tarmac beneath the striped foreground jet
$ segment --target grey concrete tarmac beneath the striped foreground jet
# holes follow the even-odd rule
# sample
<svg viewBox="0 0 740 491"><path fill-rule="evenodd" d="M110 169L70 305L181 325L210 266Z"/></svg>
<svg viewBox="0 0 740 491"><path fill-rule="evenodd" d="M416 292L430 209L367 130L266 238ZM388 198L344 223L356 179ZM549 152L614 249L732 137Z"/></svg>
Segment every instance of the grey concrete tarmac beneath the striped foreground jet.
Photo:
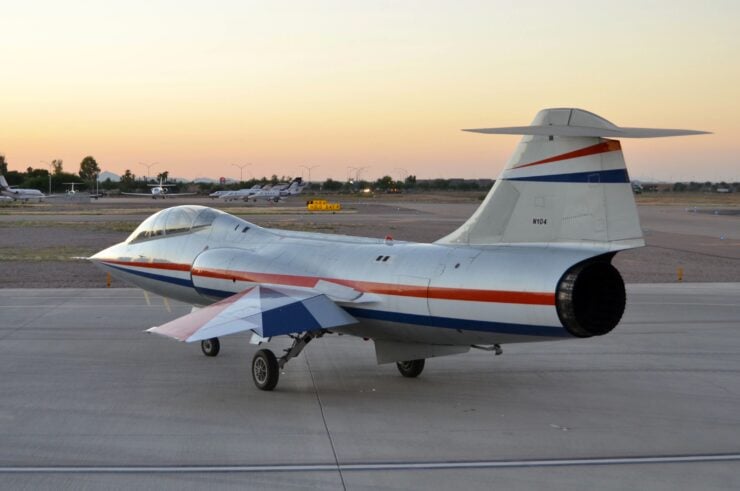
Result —
<svg viewBox="0 0 740 491"><path fill-rule="evenodd" d="M246 335L206 358L142 333L183 304L0 289L0 488L740 488L740 284L628 293L607 336L418 379L326 336L266 393Z"/></svg>

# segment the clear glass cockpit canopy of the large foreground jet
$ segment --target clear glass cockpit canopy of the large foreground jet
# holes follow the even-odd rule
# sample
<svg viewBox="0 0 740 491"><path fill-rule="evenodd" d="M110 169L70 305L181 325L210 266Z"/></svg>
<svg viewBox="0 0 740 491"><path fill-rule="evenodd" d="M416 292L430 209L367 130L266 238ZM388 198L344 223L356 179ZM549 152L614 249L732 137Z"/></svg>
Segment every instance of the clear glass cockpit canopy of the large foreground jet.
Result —
<svg viewBox="0 0 740 491"><path fill-rule="evenodd" d="M126 242L141 242L165 235L186 234L210 227L224 212L206 206L183 205L155 213L136 227Z"/></svg>

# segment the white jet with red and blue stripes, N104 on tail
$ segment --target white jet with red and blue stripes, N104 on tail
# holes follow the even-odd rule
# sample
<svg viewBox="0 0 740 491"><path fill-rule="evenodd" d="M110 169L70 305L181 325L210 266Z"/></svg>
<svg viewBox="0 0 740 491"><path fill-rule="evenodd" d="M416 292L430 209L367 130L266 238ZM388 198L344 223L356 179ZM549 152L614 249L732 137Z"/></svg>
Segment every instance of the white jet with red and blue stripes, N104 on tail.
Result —
<svg viewBox="0 0 740 491"><path fill-rule="evenodd" d="M691 135L617 127L580 109L545 109L530 126L466 130L525 135L478 210L431 244L266 229L200 206L162 210L91 258L147 291L194 305L150 332L201 342L251 331L289 336L260 349L252 376L273 389L312 339L372 339L378 363L418 376L426 358L505 343L601 336L626 296L611 260L644 245L616 138Z"/></svg>

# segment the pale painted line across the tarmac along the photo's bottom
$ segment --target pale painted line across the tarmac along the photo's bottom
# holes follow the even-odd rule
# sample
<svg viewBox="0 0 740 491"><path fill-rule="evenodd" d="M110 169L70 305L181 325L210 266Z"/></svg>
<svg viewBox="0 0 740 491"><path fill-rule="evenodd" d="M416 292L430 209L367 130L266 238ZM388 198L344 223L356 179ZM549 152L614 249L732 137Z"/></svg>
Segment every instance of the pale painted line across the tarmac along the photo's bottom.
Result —
<svg viewBox="0 0 740 491"><path fill-rule="evenodd" d="M506 469L517 467L572 467L634 464L681 464L740 461L740 454L602 457L591 459L472 460L460 462L392 462L377 464L267 464L170 466L15 466L0 467L0 474L177 474L234 472L360 472L434 469Z"/></svg>

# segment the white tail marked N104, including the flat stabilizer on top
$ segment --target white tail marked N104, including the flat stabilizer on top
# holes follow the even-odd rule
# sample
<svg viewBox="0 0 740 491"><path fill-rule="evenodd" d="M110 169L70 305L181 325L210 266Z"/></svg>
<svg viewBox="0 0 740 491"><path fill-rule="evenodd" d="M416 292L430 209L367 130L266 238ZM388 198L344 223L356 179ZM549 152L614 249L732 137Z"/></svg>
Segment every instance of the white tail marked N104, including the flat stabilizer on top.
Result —
<svg viewBox="0 0 740 491"><path fill-rule="evenodd" d="M438 243L588 243L608 250L644 241L621 145L604 137L703 133L620 128L581 109L544 109L531 126L466 131L526 136L473 216Z"/></svg>

